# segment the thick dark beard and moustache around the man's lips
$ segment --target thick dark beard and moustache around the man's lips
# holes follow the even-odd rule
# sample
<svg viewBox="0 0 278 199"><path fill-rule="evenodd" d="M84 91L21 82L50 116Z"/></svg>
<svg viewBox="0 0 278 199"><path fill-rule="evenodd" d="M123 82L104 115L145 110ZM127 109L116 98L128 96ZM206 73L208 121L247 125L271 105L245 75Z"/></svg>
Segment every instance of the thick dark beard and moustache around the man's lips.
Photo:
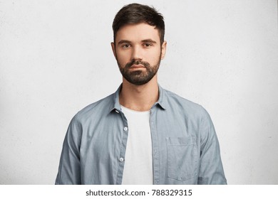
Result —
<svg viewBox="0 0 278 199"><path fill-rule="evenodd" d="M150 66L150 63L141 60L132 60L131 62L127 63L124 68L120 66L120 63L118 63L118 59L117 63L120 69L120 73L122 73L125 80L127 80L133 85L145 85L146 83L150 82L150 80L152 80L155 74L158 72L158 68L160 66L160 59L161 54L160 58L158 59L158 63L153 66ZM143 65L146 71L144 72L142 70L135 70L130 72L129 68L134 64Z"/></svg>

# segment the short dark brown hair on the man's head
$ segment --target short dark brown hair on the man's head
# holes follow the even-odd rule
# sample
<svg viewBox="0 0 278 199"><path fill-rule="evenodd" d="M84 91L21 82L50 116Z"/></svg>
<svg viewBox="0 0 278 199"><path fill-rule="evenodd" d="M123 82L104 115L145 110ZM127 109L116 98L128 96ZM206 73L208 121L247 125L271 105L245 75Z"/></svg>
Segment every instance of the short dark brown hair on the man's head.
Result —
<svg viewBox="0 0 278 199"><path fill-rule="evenodd" d="M150 6L142 5L142 4L128 4L123 6L120 11L115 15L113 21L113 35L114 35L114 43L115 36L118 30L127 25L127 24L135 24L135 23L148 23L150 26L155 26L158 28L158 33L160 36L160 45L164 42L164 34L165 34L165 24L163 15L158 13L155 8L151 8Z"/></svg>

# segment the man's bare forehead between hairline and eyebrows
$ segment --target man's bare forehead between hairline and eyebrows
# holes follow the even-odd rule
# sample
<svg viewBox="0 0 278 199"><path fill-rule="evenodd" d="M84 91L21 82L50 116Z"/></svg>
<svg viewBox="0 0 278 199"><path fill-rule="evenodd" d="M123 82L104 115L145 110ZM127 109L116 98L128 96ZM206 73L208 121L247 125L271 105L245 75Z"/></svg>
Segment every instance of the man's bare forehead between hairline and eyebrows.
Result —
<svg viewBox="0 0 278 199"><path fill-rule="evenodd" d="M158 29L155 26L150 26L148 23L128 24L121 27L115 36L115 41L143 41L145 39L159 42Z"/></svg>

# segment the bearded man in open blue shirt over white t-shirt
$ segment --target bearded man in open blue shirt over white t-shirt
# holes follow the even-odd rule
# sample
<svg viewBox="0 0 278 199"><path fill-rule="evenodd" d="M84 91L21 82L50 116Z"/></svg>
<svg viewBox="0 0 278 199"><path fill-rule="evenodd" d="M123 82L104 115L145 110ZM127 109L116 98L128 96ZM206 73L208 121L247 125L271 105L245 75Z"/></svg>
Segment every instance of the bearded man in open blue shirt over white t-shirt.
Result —
<svg viewBox="0 0 278 199"><path fill-rule="evenodd" d="M118 11L111 46L123 83L73 117L56 184L226 184L209 114L158 85L164 32L149 6Z"/></svg>

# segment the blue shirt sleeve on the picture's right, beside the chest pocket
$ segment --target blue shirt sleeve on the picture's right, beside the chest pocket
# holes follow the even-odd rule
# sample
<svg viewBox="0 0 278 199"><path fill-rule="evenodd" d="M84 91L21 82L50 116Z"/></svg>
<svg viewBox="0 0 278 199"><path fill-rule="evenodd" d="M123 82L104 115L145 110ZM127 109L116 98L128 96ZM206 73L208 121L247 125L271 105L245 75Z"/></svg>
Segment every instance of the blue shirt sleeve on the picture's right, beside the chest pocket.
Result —
<svg viewBox="0 0 278 199"><path fill-rule="evenodd" d="M227 184L215 127L212 124L210 115L206 111L201 121L201 149L198 184Z"/></svg>

